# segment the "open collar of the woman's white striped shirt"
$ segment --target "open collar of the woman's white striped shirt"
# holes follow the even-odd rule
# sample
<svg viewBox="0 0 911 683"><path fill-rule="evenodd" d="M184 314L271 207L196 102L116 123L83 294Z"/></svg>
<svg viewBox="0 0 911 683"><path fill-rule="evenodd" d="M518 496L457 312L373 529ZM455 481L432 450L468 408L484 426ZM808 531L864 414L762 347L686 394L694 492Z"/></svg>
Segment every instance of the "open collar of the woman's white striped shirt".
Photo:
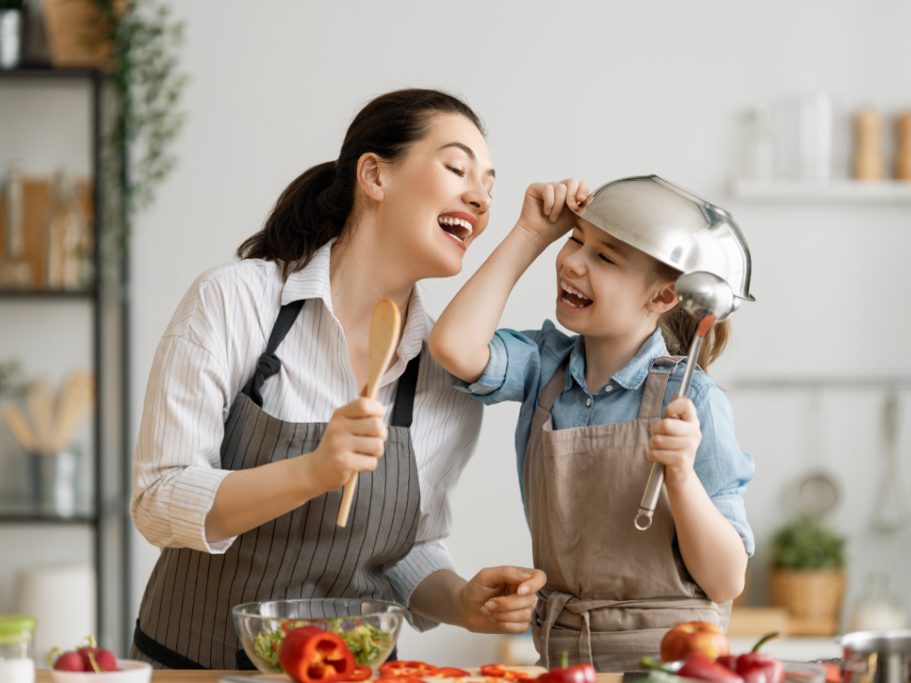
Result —
<svg viewBox="0 0 911 683"><path fill-rule="evenodd" d="M319 299L326 309L333 313L333 292L329 280L329 263L335 240L329 240L313 252L310 262L301 270L292 272L281 290L281 305L302 299ZM333 313L334 317L334 313ZM417 286L411 292L408 301L408 319L404 323L404 332L396 350L396 359L386 372L384 382L392 382L404 372L404 366L413 359L430 336L432 321L424 310L421 295Z"/></svg>

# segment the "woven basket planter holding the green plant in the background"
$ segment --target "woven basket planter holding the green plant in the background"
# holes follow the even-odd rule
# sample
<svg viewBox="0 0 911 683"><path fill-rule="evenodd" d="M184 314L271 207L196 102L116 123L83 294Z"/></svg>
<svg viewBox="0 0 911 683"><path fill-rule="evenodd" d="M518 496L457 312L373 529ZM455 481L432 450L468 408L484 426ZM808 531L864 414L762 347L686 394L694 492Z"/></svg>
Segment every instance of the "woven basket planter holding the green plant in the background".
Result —
<svg viewBox="0 0 911 683"><path fill-rule="evenodd" d="M772 603L815 631L802 635L834 635L846 584L840 569L773 569Z"/></svg>

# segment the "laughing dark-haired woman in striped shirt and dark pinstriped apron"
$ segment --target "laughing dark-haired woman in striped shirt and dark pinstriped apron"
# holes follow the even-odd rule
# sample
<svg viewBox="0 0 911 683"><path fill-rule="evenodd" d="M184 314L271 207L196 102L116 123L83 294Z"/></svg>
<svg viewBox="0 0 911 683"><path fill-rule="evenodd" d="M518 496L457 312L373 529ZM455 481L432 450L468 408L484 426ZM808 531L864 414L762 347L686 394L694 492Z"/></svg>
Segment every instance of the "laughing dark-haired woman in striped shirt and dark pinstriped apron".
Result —
<svg viewBox="0 0 911 683"><path fill-rule="evenodd" d="M159 344L139 430L131 511L164 550L133 657L249 666L230 607L285 597L392 599L422 629L527 629L543 574L496 567L466 582L441 542L481 415L425 351L415 289L461 270L493 183L463 102L432 90L377 97L338 160L285 189L241 261L193 284ZM372 401L358 388L384 297L404 322Z"/></svg>

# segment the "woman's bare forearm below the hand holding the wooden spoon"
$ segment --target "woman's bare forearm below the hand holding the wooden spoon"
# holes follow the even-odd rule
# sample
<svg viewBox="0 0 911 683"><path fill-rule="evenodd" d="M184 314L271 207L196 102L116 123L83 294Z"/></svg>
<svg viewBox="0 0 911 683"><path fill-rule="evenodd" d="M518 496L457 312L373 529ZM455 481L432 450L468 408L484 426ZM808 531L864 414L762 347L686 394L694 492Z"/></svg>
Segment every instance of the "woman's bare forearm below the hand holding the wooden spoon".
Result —
<svg viewBox="0 0 911 683"><path fill-rule="evenodd" d="M206 540L217 543L264 525L325 493L305 474L310 454L226 476L206 515Z"/></svg>

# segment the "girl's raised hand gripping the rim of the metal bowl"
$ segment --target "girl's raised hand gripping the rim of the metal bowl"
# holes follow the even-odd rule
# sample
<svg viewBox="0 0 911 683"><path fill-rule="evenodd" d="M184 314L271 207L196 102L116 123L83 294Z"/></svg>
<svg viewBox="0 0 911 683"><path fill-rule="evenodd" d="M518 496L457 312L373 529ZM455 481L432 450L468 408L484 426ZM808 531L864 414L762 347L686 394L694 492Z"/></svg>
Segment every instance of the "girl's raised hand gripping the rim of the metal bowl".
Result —
<svg viewBox="0 0 911 683"><path fill-rule="evenodd" d="M576 222L576 215L566 207L585 209L589 201L589 184L576 178L558 183L534 183L526 190L517 227L525 229L547 247L572 229Z"/></svg>

